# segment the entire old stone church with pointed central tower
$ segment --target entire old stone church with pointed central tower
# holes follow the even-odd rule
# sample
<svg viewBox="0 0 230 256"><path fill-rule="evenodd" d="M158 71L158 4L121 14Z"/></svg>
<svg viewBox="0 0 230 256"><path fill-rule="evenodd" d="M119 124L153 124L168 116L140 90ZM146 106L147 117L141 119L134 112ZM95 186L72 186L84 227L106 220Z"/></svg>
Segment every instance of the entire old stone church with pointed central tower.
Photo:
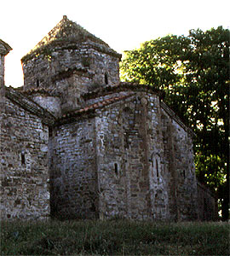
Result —
<svg viewBox="0 0 230 256"><path fill-rule="evenodd" d="M162 91L120 82L122 55L63 16L21 59L13 88L10 50L0 40L1 218L216 218L193 131Z"/></svg>

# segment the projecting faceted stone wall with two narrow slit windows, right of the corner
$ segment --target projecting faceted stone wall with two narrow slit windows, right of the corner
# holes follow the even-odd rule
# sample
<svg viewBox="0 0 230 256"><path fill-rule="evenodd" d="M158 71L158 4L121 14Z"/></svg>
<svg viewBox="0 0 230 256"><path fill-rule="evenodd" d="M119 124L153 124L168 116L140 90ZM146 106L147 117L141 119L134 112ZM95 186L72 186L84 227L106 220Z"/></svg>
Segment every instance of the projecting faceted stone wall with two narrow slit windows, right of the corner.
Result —
<svg viewBox="0 0 230 256"><path fill-rule="evenodd" d="M96 135L101 218L197 218L192 136L158 96L98 110Z"/></svg>

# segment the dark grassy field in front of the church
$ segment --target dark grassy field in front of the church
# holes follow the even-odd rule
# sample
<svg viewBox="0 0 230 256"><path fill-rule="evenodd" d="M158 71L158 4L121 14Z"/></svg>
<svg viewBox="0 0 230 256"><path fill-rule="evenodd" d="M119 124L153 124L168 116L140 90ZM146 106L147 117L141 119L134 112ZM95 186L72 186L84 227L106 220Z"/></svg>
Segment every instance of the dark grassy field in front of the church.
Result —
<svg viewBox="0 0 230 256"><path fill-rule="evenodd" d="M2 222L1 255L229 255L227 223Z"/></svg>

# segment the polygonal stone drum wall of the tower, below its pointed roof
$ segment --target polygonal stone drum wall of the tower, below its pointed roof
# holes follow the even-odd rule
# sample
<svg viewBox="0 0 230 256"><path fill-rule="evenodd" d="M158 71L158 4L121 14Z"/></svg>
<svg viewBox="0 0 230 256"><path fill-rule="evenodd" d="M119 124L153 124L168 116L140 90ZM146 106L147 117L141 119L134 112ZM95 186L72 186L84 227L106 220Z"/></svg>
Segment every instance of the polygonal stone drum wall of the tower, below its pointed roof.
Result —
<svg viewBox="0 0 230 256"><path fill-rule="evenodd" d="M93 48L90 42L50 49L24 61L25 90L43 87L62 94L62 107L76 108L84 92L119 83L119 58Z"/></svg>

